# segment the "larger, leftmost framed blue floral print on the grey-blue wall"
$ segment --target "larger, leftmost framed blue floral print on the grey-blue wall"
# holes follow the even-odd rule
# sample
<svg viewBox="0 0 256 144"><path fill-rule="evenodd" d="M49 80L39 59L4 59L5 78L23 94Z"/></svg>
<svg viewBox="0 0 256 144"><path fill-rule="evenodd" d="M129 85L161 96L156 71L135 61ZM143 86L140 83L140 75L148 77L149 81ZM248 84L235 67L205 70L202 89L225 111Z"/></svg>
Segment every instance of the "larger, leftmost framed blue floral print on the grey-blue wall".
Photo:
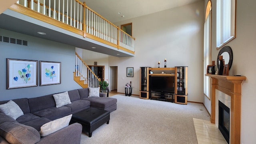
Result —
<svg viewBox="0 0 256 144"><path fill-rule="evenodd" d="M38 86L37 60L6 59L6 89Z"/></svg>

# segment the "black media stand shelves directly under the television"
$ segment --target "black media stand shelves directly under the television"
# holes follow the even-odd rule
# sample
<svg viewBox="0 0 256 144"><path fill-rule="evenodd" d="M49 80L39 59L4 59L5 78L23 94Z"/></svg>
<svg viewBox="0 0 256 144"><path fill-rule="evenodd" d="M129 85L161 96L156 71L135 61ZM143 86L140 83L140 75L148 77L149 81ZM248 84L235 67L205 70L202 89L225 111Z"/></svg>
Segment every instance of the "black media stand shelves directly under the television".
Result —
<svg viewBox="0 0 256 144"><path fill-rule="evenodd" d="M173 102L174 92L151 92L151 100L162 100L166 102Z"/></svg>

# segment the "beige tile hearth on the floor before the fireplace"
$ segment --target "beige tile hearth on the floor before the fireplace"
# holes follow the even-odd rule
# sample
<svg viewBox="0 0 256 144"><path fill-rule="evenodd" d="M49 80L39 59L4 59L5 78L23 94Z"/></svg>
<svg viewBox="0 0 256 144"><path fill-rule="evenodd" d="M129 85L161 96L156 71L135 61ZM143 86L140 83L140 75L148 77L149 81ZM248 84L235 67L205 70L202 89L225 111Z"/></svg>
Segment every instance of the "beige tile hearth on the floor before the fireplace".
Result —
<svg viewBox="0 0 256 144"><path fill-rule="evenodd" d="M198 144L228 144L215 124L193 118Z"/></svg>

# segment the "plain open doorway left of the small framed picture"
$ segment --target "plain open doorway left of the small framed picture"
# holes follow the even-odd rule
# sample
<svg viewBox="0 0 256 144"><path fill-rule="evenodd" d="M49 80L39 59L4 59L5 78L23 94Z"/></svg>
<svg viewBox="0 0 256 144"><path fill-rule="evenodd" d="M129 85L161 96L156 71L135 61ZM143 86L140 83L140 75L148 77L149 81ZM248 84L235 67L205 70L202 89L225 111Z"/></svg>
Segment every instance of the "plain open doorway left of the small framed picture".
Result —
<svg viewBox="0 0 256 144"><path fill-rule="evenodd" d="M109 90L117 90L117 66L110 66L109 76Z"/></svg>

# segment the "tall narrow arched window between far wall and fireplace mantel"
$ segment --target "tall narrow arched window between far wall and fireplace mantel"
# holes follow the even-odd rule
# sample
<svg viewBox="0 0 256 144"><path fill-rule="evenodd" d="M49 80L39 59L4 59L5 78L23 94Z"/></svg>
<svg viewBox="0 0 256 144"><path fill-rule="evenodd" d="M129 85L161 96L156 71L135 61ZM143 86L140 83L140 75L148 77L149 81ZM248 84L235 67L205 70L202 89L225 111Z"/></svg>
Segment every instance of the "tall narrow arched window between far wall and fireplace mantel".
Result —
<svg viewBox="0 0 256 144"><path fill-rule="evenodd" d="M204 22L204 94L210 99L210 78L205 76L207 65L211 63L211 19L212 4L209 0L206 6Z"/></svg>

